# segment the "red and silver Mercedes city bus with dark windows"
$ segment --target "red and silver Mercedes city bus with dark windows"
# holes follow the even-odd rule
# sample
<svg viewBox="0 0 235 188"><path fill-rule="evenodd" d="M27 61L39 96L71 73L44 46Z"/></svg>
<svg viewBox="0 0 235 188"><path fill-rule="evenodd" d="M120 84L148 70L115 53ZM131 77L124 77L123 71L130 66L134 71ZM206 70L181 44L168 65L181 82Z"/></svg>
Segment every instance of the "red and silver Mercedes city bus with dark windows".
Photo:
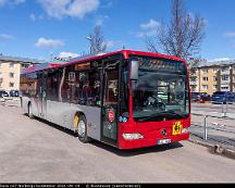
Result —
<svg viewBox="0 0 235 188"><path fill-rule="evenodd" d="M21 75L22 108L120 149L189 138L188 68L175 57L122 50Z"/></svg>

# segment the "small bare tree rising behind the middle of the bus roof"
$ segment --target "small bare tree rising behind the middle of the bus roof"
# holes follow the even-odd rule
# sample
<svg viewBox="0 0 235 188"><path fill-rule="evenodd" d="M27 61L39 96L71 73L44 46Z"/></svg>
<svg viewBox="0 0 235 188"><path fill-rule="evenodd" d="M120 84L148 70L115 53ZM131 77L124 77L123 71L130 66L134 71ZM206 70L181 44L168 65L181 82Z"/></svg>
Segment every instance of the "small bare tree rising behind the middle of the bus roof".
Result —
<svg viewBox="0 0 235 188"><path fill-rule="evenodd" d="M90 42L90 54L106 52L107 42L104 41L100 25L94 28L94 34L90 34L89 37L87 37L87 39Z"/></svg>

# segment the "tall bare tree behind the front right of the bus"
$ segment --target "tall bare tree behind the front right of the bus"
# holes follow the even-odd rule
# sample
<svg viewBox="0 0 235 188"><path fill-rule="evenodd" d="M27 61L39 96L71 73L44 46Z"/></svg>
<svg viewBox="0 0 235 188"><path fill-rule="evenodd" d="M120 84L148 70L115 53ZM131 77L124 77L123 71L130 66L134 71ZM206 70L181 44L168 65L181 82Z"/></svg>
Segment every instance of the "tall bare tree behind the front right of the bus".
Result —
<svg viewBox="0 0 235 188"><path fill-rule="evenodd" d="M157 52L159 46L168 54L188 60L200 51L205 20L188 13L184 0L173 0L171 15L169 24L159 26L157 38L146 37L147 48Z"/></svg>

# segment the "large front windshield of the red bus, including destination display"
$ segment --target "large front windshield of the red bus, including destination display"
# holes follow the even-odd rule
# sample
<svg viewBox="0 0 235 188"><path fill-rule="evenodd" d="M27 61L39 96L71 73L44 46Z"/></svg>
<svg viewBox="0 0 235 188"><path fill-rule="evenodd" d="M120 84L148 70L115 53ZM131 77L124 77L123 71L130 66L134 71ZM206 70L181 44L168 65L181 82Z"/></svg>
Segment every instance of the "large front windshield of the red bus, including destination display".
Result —
<svg viewBox="0 0 235 188"><path fill-rule="evenodd" d="M138 61L138 80L133 88L134 118L136 121L186 118L189 114L189 89L185 65L169 60L156 62L149 58Z"/></svg>

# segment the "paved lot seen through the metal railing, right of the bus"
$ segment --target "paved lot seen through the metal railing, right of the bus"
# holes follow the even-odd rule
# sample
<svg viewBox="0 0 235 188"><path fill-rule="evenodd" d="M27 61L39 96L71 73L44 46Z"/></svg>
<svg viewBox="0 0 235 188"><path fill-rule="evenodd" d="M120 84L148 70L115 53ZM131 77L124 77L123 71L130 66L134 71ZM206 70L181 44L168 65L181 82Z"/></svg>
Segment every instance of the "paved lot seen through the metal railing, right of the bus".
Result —
<svg viewBox="0 0 235 188"><path fill-rule="evenodd" d="M190 138L235 152L235 104L193 103Z"/></svg>

